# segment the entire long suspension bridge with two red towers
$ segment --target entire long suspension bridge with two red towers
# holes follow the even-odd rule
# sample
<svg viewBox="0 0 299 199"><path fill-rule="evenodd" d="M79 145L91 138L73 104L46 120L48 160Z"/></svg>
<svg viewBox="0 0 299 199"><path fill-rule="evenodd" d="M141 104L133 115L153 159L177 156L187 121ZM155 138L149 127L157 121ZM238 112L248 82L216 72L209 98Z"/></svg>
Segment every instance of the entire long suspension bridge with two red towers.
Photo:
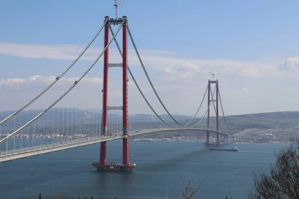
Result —
<svg viewBox="0 0 299 199"><path fill-rule="evenodd" d="M116 27L118 27L115 32L112 25L117 25ZM121 29L122 48L117 39L117 35ZM94 62L78 79L69 85L69 88L65 89L65 92L62 95L53 99L47 107L40 108L40 105L38 105L38 110L30 109L30 107L33 107L32 104L40 104L43 99L49 98L51 95L51 88L54 87L57 82L57 84L59 84L59 81L63 79L63 76L68 73L68 71L89 49L102 30L104 30L104 46ZM112 35L111 39L109 39L110 33ZM157 113L157 110L149 102L143 89L138 84L133 71L130 69L128 65L128 36L130 37L143 72L146 75L146 79L149 82L151 91L153 91L154 96L167 114ZM120 63L109 62L109 46L113 42L122 59L122 62ZM97 93L96 100L101 103L102 108L80 109L71 108L68 105L65 105L74 101L72 92L74 92L78 85L81 84L80 82L84 82L85 76L90 74L90 70L102 56L104 57L103 88L102 91L101 89L93 91L94 93ZM108 105L108 70L110 71L113 68L122 68L122 106ZM134 82L134 85L132 85L130 89L134 86L134 88L138 90L141 94L141 99L145 102L145 106L152 111L152 115L129 115L129 100L136 97L129 98L128 73ZM82 106L82 103L88 103L88 94L86 95L86 93L84 93L79 94L78 96L79 97L75 98L77 99L77 105L80 104ZM207 106L205 107L204 101L206 97ZM20 100L21 99L20 96ZM131 136L153 132L165 133L167 131L202 131L206 132L206 146L221 145L221 140L230 142L232 135L225 120L218 80L208 80L204 96L200 103L196 105L198 108L197 110L194 109L196 111L193 117L182 118L170 114L166 105L158 95L156 88L152 84L128 26L127 17L123 16L113 19L106 16L103 25L88 45L59 76L53 78L51 84L32 100L25 102L18 110L13 111L7 117L2 118L0 121L0 162L16 160L19 158L29 158L30 156L101 143L100 160L92 164L94 167L99 171L131 171L136 166L136 164L130 163L129 161L129 137ZM223 115L221 117L219 117L219 105ZM198 117L197 115L202 109L204 109L202 113L203 115ZM210 117L210 109L215 111L215 117ZM221 122L219 121L220 118L222 119ZM215 120L215 122L212 122L211 120ZM205 122L204 124L203 121ZM216 124L211 125L212 123ZM221 123L225 124L224 130L221 127ZM216 142L214 143L210 142L211 134L216 135ZM220 138L220 136L222 138ZM123 140L123 163L107 164L107 141L116 139Z"/></svg>

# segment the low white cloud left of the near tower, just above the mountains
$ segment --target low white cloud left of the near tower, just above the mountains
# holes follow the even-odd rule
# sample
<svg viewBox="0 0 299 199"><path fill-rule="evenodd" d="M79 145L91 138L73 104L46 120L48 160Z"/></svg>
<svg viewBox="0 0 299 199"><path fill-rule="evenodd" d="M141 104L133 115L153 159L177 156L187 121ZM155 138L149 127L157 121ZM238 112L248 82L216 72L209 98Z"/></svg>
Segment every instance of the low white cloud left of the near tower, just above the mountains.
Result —
<svg viewBox="0 0 299 199"><path fill-rule="evenodd" d="M56 77L39 75L28 77L27 79L4 79L0 80L0 95L3 106L0 110L14 110L24 105L26 102L43 91ZM58 97L60 97L68 88L70 88L78 78L61 78L50 90L34 103L31 108L45 108ZM78 97L82 98L92 94L91 98L99 98L102 88L102 79L100 78L83 78L66 97L70 106L76 104Z"/></svg>

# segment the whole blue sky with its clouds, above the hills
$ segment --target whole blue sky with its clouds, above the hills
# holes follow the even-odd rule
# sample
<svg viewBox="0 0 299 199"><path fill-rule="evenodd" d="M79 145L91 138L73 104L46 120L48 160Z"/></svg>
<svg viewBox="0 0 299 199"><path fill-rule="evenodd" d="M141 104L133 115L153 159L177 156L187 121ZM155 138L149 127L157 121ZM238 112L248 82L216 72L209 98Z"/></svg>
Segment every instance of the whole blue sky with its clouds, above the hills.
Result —
<svg viewBox="0 0 299 199"><path fill-rule="evenodd" d="M113 3L114 0L0 1L0 93L7 96L3 99L7 105L0 110L17 108L51 82L48 76L58 76L94 36L104 16L115 17ZM299 97L294 92L298 90L299 74L298 7L297 0L124 0L119 16L128 16L153 83L159 87L162 100L169 102L171 112L192 114L197 105L176 107L179 101L173 98L180 95L177 100L185 101L185 96L193 95L190 91L199 90L190 97L194 99L190 104L199 101L210 78L208 71L213 71L224 90L228 114L242 114L299 109L293 101ZM103 47L103 34L99 37L92 46L91 57ZM32 58L36 54L41 58ZM148 91L136 56L131 54L129 65L136 66L136 76ZM119 59L117 56L111 55L112 60ZM65 76L70 83L93 58L78 62ZM284 70L279 70L280 65L285 66ZM102 78L101 67L99 62L88 78ZM119 72L113 73L120 77ZM36 75L42 76L40 82L29 79ZM22 86L8 81L13 78L20 79L17 81ZM40 88L32 89L34 81ZM65 81L67 84L68 79ZM28 86L24 101L8 99L16 97L18 89L26 84L31 85L31 90ZM117 100L119 84L111 84L113 91ZM54 93L58 97L61 91ZM148 95L159 109L153 95ZM265 99L272 100L265 103ZM132 111L150 112L138 107Z"/></svg>

